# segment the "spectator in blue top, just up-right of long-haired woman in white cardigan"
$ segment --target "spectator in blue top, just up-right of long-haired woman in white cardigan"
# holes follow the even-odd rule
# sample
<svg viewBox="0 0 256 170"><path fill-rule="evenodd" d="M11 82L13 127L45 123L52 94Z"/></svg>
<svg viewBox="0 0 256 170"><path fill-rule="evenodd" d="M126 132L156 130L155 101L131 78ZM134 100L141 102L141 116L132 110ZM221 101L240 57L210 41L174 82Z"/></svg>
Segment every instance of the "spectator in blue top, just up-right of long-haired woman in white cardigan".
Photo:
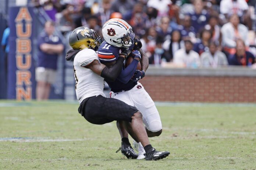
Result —
<svg viewBox="0 0 256 170"><path fill-rule="evenodd" d="M182 37L196 37L195 28L191 26L191 17L189 15L185 15L183 19L183 25L179 25L178 28L181 30Z"/></svg>

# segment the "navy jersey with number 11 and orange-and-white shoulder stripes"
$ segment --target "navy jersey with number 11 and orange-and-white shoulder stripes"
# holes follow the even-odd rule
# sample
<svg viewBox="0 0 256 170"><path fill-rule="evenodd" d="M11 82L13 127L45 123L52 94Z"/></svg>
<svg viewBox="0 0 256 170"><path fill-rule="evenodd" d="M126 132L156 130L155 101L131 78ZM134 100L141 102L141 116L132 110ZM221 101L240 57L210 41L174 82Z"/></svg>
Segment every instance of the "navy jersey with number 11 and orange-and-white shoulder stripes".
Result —
<svg viewBox="0 0 256 170"><path fill-rule="evenodd" d="M132 48L132 47L130 47ZM106 41L104 41L98 50L98 57L100 59L100 62L102 64L107 63L107 62L112 62L118 59L119 54L121 51L124 50L122 47L114 47L110 44L108 44ZM123 66L123 70L125 69L125 66ZM120 75L121 76L121 75ZM120 78L120 77L119 77ZM138 81L132 81L129 80L127 83L121 82L118 80L118 78L114 82L109 82L105 80L107 84L109 84L109 87L111 88L111 91L113 92L120 92L122 90L127 91L131 90Z"/></svg>

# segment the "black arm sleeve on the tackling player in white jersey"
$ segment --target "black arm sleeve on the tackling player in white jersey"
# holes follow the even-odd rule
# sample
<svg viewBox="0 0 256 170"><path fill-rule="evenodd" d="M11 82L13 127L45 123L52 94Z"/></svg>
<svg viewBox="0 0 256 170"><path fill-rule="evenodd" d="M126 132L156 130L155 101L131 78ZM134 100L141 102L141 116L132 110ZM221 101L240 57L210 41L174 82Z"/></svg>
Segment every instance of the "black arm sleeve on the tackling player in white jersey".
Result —
<svg viewBox="0 0 256 170"><path fill-rule="evenodd" d="M109 82L114 82L115 79L117 79L118 75L120 75L123 63L124 63L124 58L119 57L113 67L111 68L108 68L107 66L104 67L100 76L108 80Z"/></svg>

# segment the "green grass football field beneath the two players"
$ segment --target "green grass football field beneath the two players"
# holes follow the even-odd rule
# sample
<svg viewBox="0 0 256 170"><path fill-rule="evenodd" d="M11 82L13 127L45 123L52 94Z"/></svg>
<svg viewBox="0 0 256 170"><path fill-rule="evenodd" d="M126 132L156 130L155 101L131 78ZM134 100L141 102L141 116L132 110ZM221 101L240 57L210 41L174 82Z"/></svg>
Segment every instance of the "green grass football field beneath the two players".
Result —
<svg viewBox="0 0 256 170"><path fill-rule="evenodd" d="M256 169L256 105L158 106L163 133L150 141L171 152L159 161L115 153L121 145L115 123L90 124L77 108L0 101L0 170Z"/></svg>

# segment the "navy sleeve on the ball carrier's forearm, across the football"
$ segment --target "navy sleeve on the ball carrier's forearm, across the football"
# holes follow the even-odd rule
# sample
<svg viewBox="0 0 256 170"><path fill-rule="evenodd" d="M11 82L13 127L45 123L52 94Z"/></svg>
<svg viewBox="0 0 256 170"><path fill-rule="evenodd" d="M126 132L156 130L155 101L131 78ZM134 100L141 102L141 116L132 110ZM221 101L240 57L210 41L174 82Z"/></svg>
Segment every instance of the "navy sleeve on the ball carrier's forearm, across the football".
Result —
<svg viewBox="0 0 256 170"><path fill-rule="evenodd" d="M134 75L137 65L139 61L137 59L132 60L131 64L127 66L127 68L122 69L120 75L117 77L117 79L122 83L128 83L129 80Z"/></svg>

